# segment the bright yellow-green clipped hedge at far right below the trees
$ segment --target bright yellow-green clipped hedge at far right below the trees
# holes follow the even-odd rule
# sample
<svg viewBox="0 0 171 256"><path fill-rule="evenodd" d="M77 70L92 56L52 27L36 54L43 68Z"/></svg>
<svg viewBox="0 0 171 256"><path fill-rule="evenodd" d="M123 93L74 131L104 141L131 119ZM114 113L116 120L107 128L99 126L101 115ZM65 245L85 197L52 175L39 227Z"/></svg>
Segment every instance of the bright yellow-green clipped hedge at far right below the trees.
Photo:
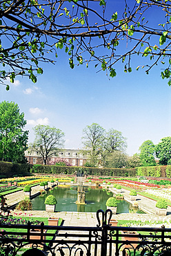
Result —
<svg viewBox="0 0 171 256"><path fill-rule="evenodd" d="M138 176L171 177L171 165L137 167Z"/></svg>

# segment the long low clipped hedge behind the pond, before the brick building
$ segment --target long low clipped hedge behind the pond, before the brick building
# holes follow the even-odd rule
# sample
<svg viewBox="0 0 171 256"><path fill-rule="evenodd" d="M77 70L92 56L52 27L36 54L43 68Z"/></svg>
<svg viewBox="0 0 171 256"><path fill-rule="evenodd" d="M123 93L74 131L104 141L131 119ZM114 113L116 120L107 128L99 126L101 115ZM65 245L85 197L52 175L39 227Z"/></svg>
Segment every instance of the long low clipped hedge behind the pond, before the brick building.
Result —
<svg viewBox="0 0 171 256"><path fill-rule="evenodd" d="M30 170L33 173L40 174L76 174L83 172L87 175L98 176L136 176L136 169L119 168L95 168L95 167L77 167L77 166L59 166L59 165L34 165Z"/></svg>

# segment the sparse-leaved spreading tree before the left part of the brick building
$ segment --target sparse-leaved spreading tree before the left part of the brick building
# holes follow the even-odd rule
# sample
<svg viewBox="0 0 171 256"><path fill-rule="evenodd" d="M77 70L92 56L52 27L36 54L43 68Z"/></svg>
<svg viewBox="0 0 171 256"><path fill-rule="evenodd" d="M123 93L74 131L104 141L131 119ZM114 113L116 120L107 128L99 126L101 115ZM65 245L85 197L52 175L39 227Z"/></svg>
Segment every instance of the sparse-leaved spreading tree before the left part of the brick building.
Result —
<svg viewBox="0 0 171 256"><path fill-rule="evenodd" d="M48 157L54 156L63 147L65 134L49 125L37 125L33 129L35 140L32 147L42 156L44 165L47 165Z"/></svg>

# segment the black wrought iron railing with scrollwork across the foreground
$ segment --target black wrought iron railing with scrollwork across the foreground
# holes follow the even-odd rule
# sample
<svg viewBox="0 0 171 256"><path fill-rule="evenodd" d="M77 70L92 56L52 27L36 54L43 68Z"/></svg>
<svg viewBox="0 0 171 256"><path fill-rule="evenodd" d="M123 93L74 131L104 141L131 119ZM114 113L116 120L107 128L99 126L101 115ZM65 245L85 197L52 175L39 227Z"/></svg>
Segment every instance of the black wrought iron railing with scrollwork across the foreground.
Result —
<svg viewBox="0 0 171 256"><path fill-rule="evenodd" d="M171 228L110 226L111 217L110 210L97 211L99 225L91 228L0 223L0 255L171 255Z"/></svg>

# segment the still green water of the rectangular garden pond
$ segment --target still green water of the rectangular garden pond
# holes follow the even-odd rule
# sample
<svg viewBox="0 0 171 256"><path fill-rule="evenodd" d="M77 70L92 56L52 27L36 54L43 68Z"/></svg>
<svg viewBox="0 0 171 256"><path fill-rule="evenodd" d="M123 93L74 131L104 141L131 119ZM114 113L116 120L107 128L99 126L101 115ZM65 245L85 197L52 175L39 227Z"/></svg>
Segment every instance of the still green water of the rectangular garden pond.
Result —
<svg viewBox="0 0 171 256"><path fill-rule="evenodd" d="M106 210L105 202L110 196L113 196L111 192L102 190L101 188L88 188L84 187L86 192L86 205L77 205L77 187L54 187L52 190L48 190L43 196L37 196L32 199L32 210L46 210L44 201L46 196L53 194L57 199L57 205L55 212L97 212L97 210ZM137 212L143 213L140 210L132 209L132 205L122 200L117 205L117 213Z"/></svg>

